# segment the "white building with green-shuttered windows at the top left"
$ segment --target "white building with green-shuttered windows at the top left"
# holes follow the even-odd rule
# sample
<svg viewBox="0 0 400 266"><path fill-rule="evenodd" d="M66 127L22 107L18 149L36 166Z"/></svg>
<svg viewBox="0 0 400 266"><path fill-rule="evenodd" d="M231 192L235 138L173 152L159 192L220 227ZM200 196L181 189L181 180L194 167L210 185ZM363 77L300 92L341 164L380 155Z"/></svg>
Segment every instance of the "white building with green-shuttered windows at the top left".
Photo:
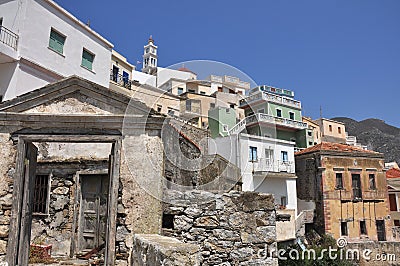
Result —
<svg viewBox="0 0 400 266"><path fill-rule="evenodd" d="M51 0L0 2L0 96L77 75L108 87L113 45Z"/></svg>

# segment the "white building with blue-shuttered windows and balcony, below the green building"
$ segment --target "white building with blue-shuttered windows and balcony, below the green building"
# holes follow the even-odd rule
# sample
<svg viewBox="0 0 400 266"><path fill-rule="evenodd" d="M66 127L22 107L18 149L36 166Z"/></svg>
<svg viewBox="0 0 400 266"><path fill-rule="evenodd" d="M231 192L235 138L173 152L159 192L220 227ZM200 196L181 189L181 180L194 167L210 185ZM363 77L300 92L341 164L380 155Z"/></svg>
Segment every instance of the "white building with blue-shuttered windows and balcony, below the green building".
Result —
<svg viewBox="0 0 400 266"><path fill-rule="evenodd" d="M277 240L296 238L297 192L294 142L248 134L209 139L209 153L219 154L241 170L242 189L274 194L278 215Z"/></svg>

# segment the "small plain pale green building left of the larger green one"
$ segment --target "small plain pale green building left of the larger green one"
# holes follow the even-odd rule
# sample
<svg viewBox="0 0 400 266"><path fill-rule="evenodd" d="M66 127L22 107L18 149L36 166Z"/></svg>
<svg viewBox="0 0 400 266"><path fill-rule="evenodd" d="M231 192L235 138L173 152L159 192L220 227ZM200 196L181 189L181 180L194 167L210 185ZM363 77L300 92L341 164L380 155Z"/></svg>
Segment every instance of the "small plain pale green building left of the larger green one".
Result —
<svg viewBox="0 0 400 266"><path fill-rule="evenodd" d="M232 108L216 107L208 111L208 127L211 137L225 137L236 124L236 112Z"/></svg>

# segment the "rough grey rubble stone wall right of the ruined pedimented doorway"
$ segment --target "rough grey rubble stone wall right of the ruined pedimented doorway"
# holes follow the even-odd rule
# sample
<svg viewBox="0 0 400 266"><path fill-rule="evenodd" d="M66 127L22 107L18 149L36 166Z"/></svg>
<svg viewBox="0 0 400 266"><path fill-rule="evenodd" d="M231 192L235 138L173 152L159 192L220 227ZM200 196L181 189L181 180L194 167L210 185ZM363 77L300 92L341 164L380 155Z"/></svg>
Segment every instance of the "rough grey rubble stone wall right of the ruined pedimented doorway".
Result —
<svg viewBox="0 0 400 266"><path fill-rule="evenodd" d="M276 250L271 194L170 190L164 200L163 234L200 245L202 265L278 265L262 255Z"/></svg>

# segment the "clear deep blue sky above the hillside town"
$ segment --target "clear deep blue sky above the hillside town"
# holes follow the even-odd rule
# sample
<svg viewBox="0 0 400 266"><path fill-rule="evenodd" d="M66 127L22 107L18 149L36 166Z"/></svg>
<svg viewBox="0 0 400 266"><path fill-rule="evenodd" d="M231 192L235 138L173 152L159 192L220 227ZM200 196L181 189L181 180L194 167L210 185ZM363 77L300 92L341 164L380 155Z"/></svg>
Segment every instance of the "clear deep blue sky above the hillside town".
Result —
<svg viewBox="0 0 400 266"><path fill-rule="evenodd" d="M159 65L215 60L294 90L303 114L400 127L400 1L56 0L131 63L153 35Z"/></svg>

